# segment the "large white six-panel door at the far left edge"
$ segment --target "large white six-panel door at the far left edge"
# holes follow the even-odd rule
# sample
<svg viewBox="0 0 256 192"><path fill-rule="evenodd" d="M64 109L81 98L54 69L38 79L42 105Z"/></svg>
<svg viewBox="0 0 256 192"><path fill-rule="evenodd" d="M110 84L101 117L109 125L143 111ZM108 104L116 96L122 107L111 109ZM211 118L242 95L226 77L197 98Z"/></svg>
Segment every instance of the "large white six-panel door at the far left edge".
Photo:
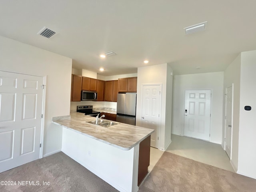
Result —
<svg viewBox="0 0 256 192"><path fill-rule="evenodd" d="M40 157L43 78L0 71L0 172Z"/></svg>

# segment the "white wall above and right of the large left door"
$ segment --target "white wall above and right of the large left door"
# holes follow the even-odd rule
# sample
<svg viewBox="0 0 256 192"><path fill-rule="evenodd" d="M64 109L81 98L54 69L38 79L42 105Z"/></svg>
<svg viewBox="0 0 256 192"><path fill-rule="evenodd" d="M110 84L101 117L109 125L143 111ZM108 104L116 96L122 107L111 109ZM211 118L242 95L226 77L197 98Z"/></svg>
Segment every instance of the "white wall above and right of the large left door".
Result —
<svg viewBox="0 0 256 192"><path fill-rule="evenodd" d="M44 155L61 150L62 129L51 121L70 113L72 59L0 36L0 70L47 76Z"/></svg>

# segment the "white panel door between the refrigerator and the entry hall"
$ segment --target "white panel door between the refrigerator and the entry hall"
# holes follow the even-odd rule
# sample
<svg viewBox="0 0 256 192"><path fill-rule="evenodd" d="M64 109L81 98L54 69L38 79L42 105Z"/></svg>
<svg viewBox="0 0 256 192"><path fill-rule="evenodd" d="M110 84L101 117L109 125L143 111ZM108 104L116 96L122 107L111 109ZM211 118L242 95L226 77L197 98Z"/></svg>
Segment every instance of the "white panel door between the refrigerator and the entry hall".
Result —
<svg viewBox="0 0 256 192"><path fill-rule="evenodd" d="M154 129L150 146L158 148L158 129L160 118L160 85L142 86L142 127Z"/></svg>

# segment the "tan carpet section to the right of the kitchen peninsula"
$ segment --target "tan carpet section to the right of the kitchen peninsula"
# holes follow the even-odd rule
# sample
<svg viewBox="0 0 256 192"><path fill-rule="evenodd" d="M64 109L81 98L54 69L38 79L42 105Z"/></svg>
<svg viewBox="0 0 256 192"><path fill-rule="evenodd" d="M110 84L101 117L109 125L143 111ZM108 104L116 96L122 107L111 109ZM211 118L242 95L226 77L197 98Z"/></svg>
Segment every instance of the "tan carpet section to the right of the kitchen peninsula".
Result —
<svg viewBox="0 0 256 192"><path fill-rule="evenodd" d="M164 152L140 192L256 192L256 180Z"/></svg>

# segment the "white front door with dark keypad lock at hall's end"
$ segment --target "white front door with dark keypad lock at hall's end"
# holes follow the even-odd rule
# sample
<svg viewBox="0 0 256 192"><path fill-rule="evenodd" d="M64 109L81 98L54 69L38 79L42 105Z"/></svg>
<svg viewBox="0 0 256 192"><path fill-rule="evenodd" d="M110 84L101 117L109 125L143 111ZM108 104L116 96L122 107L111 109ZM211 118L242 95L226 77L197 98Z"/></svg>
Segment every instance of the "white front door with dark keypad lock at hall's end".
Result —
<svg viewBox="0 0 256 192"><path fill-rule="evenodd" d="M186 90L184 136L210 140L211 90Z"/></svg>

